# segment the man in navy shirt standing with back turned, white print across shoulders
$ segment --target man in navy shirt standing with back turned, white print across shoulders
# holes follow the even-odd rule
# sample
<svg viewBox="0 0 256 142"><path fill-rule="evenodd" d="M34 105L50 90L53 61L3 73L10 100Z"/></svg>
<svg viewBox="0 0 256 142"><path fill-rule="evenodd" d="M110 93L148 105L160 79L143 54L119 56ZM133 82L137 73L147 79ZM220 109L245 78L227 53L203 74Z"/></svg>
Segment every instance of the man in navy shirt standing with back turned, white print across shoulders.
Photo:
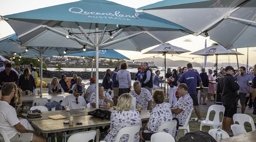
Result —
<svg viewBox="0 0 256 142"><path fill-rule="evenodd" d="M204 119L201 117L200 110L199 110L199 104L196 97L196 86L197 82L200 85L200 88L204 88L201 77L198 72L193 71L193 66L191 63L187 64L188 71L180 75L180 78L178 79L177 84L180 84L181 82L184 82L188 86L188 93L190 97L193 99L193 106L195 107L195 112L198 118L198 122L203 121ZM197 119L195 119L197 121Z"/></svg>

